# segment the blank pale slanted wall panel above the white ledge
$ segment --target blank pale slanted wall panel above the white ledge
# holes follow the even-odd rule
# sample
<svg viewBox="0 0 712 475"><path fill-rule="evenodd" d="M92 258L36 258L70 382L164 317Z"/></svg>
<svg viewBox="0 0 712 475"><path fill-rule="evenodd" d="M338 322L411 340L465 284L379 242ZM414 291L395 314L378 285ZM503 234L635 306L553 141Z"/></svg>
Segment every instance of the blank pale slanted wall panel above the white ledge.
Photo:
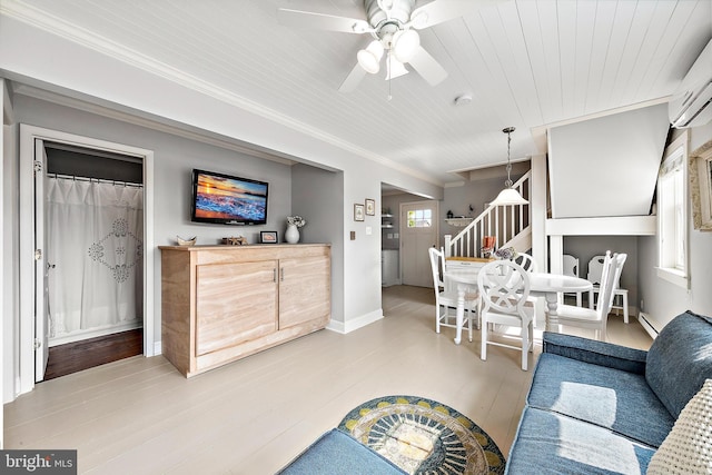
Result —
<svg viewBox="0 0 712 475"><path fill-rule="evenodd" d="M649 215L669 127L662 103L552 128L552 218Z"/></svg>

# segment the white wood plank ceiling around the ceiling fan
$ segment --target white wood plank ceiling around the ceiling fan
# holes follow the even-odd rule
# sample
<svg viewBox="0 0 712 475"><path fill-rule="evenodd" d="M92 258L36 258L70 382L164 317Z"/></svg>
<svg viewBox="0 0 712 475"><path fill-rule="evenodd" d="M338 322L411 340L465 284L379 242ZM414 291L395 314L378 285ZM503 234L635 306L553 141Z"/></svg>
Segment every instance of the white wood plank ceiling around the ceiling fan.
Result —
<svg viewBox="0 0 712 475"><path fill-rule="evenodd" d="M504 127L522 159L534 129L670 96L712 37L712 0L463 2L471 13L421 30L445 81L368 75L348 93L370 37L289 28L276 11L365 18L360 0L0 0L0 12L439 182L506 161Z"/></svg>

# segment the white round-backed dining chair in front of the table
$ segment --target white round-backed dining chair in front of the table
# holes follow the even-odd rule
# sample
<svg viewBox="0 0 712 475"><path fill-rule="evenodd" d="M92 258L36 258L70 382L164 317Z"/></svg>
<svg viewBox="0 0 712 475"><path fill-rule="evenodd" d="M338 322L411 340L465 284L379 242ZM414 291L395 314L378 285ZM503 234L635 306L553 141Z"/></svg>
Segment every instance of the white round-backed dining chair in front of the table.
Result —
<svg viewBox="0 0 712 475"><path fill-rule="evenodd" d="M530 278L522 266L512 260L495 260L485 265L477 276L479 288L479 320L482 349L479 357L487 359L487 345L520 349L522 369L527 369L528 353L533 350L535 311L527 306ZM490 325L504 325L521 329L521 346L491 339Z"/></svg>

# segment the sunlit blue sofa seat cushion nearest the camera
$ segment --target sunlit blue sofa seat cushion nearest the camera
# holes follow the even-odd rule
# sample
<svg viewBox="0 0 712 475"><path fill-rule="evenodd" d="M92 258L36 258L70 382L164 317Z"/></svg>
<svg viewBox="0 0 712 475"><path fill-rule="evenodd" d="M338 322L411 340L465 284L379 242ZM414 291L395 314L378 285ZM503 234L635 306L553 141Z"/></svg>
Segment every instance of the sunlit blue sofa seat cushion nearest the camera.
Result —
<svg viewBox="0 0 712 475"><path fill-rule="evenodd" d="M505 474L644 474L654 452L597 425L527 407Z"/></svg>

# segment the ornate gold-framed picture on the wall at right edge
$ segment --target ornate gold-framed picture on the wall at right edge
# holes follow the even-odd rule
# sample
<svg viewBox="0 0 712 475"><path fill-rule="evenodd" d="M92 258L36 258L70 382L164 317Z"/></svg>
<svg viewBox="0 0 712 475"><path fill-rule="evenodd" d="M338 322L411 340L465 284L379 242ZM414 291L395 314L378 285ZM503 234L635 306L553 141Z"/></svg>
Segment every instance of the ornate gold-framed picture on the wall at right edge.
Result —
<svg viewBox="0 0 712 475"><path fill-rule="evenodd" d="M694 229L712 230L712 140L690 154L690 196Z"/></svg>

